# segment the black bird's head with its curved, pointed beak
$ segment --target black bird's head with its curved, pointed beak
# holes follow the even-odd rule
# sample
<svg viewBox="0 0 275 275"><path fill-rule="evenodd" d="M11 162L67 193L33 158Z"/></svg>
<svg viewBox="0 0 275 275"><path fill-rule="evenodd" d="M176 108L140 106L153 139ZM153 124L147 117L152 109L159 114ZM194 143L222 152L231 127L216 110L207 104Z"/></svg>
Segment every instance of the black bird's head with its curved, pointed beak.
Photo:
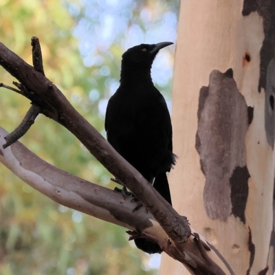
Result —
<svg viewBox="0 0 275 275"><path fill-rule="evenodd" d="M155 56L163 47L173 44L172 42L162 42L157 44L141 44L131 47L122 54L122 65L133 67L151 67Z"/></svg>

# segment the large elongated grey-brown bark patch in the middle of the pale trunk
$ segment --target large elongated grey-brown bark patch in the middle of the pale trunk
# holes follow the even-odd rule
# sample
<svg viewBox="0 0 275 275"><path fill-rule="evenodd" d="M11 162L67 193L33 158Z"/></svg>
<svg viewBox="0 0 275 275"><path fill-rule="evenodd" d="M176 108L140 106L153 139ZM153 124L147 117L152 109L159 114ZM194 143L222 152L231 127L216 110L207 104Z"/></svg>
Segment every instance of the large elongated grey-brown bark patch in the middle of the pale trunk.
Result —
<svg viewBox="0 0 275 275"><path fill-rule="evenodd" d="M243 174L237 173L238 169L234 173L234 170L246 165L245 134L248 130L248 106L232 76L232 69L224 74L212 71L209 86L201 87L197 111L195 148L201 159L201 170L206 176L203 203L208 217L222 221L226 221L232 212L244 219L247 199L240 208L236 195L230 196L231 192L243 188L236 186L241 182L236 177ZM232 184L230 177L233 174ZM231 201L232 198L234 201Z"/></svg>

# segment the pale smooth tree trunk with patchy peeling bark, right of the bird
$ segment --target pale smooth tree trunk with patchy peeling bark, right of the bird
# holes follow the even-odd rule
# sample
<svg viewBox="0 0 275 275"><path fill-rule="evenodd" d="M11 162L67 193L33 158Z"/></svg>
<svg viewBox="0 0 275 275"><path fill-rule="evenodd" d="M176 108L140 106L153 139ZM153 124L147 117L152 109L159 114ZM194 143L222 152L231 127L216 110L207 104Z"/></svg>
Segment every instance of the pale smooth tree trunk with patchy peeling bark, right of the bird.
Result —
<svg viewBox="0 0 275 275"><path fill-rule="evenodd" d="M173 207L238 275L274 274L274 37L274 0L181 1Z"/></svg>

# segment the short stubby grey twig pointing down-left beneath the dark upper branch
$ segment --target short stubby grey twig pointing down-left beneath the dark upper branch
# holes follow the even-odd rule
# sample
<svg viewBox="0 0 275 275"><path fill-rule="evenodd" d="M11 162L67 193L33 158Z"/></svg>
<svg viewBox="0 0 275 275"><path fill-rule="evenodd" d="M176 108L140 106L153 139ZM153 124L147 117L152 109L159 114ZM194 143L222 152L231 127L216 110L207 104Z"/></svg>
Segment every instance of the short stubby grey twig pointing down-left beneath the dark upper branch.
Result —
<svg viewBox="0 0 275 275"><path fill-rule="evenodd" d="M32 104L29 111L26 113L25 118L23 118L23 121L21 122L21 124L19 124L17 129L12 131L12 133L5 137L6 143L3 144L3 148L7 148L11 144L19 140L20 137L25 135L28 129L30 129L30 126L34 124L34 120L36 119L37 115L39 115L39 113L41 113L41 108L36 104Z"/></svg>

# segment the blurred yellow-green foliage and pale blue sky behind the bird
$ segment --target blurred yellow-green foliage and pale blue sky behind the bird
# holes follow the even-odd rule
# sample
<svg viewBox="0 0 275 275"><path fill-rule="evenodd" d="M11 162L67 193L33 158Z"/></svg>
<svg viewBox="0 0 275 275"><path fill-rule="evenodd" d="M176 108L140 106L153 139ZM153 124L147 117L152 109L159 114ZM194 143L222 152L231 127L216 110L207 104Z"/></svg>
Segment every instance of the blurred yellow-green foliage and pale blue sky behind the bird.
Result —
<svg viewBox="0 0 275 275"><path fill-rule="evenodd" d="M140 43L176 41L179 0L0 0L0 41L32 64L39 37L47 78L102 135L119 85L121 55ZM161 50L152 77L170 108L175 45ZM0 68L0 83L12 85ZM29 100L0 89L0 125L12 131ZM21 138L69 173L114 188L107 170L61 125L39 115ZM0 274L157 274L160 256L128 241L124 228L61 206L0 164Z"/></svg>

